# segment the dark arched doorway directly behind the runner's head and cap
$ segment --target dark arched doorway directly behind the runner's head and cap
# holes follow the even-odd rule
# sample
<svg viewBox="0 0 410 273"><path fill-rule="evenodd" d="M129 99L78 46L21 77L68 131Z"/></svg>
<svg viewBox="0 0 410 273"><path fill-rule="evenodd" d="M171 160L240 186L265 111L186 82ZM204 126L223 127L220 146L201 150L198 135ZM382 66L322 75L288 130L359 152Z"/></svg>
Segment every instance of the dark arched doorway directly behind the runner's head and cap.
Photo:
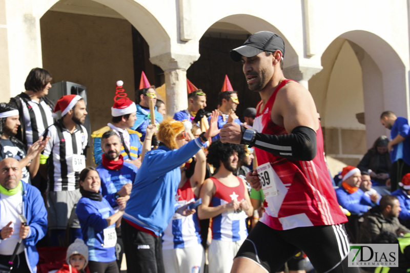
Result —
<svg viewBox="0 0 410 273"><path fill-rule="evenodd" d="M265 20L247 14L234 14L219 19L208 29L202 29L199 40L200 57L187 71L187 78L198 88L207 93L207 110L216 109L218 93L224 76L228 75L232 87L238 91L239 106L236 114L241 120L243 111L248 107L256 107L260 100L257 93L251 92L243 76L240 62L232 61L229 52L243 44L253 33L267 30L278 33L285 41L284 67L297 66L298 56L286 37Z"/></svg>

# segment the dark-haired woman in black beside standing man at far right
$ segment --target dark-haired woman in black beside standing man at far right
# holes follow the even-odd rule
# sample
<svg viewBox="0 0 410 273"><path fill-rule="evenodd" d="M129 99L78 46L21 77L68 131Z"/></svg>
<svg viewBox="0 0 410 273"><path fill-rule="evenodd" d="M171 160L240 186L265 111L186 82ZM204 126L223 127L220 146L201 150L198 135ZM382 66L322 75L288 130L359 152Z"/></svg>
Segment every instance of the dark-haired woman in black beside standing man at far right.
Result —
<svg viewBox="0 0 410 273"><path fill-rule="evenodd" d="M373 185L385 185L389 179L388 174L392 169L392 161L387 151L388 141L386 136L378 137L357 165L360 171L370 174L372 180L376 182Z"/></svg>

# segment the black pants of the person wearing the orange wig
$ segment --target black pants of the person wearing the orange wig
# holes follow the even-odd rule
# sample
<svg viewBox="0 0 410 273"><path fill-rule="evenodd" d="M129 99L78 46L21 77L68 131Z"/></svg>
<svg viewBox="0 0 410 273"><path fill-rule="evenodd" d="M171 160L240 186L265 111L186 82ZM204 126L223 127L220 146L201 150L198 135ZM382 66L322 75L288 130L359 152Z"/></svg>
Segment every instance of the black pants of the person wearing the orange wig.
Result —
<svg viewBox="0 0 410 273"><path fill-rule="evenodd" d="M141 232L124 219L121 220L121 235L128 272L165 273L160 237Z"/></svg>

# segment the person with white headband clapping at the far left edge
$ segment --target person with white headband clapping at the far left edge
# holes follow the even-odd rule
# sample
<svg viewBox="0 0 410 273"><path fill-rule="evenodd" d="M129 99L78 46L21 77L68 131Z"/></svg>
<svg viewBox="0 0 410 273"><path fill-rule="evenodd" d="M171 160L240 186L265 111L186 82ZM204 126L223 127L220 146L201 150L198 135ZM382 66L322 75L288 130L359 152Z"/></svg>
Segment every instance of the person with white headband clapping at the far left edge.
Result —
<svg viewBox="0 0 410 273"><path fill-rule="evenodd" d="M30 178L37 174L40 154L47 141L42 141L43 137L40 137L26 151L25 145L15 136L18 125L18 110L9 103L0 103L0 160L8 157L17 159L22 167L22 180L29 183Z"/></svg>

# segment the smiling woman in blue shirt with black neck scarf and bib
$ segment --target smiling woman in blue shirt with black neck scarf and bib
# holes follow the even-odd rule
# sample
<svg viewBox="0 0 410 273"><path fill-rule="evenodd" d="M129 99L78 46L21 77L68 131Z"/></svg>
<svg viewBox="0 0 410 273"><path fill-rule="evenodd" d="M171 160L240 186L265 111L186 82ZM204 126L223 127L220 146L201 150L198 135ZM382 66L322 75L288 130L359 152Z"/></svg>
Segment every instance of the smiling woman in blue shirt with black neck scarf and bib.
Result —
<svg viewBox="0 0 410 273"><path fill-rule="evenodd" d="M88 246L90 272L118 273L115 223L124 214L125 205L114 212L99 191L101 180L94 167L81 171L79 180L83 197L78 201L75 213L80 221L83 240Z"/></svg>

